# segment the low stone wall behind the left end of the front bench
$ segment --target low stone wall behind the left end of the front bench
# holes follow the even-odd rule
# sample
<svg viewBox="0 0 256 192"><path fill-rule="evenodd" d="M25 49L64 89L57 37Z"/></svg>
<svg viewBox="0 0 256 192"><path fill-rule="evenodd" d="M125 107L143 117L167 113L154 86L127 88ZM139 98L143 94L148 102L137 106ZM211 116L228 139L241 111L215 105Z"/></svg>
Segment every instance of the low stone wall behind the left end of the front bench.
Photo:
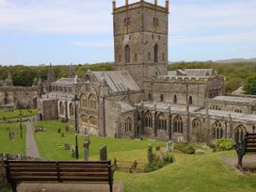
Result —
<svg viewBox="0 0 256 192"><path fill-rule="evenodd" d="M5 160L40 161L40 160L44 160L44 159L23 156L20 154L0 153L0 188L3 188L8 185L7 176L6 176L6 168L5 168L5 164L4 164Z"/></svg>

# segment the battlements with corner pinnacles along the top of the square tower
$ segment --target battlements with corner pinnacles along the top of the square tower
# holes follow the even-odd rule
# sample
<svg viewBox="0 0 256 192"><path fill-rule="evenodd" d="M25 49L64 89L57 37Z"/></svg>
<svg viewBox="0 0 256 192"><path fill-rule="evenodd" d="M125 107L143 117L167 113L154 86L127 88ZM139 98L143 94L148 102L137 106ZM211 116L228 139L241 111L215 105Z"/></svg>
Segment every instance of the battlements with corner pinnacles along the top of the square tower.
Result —
<svg viewBox="0 0 256 192"><path fill-rule="evenodd" d="M145 0L140 0L136 3L129 4L129 0L125 0L125 5L117 8L116 0L113 1L113 14L118 13L118 12L122 12L122 11L126 11L126 10L129 10L129 9L134 9L134 8L151 8L151 9L154 9L154 10L158 10L158 11L161 11L161 12L168 13L169 2L167 0L166 1L166 7L162 7L162 6L158 5L157 0L154 0L154 4L149 3Z"/></svg>

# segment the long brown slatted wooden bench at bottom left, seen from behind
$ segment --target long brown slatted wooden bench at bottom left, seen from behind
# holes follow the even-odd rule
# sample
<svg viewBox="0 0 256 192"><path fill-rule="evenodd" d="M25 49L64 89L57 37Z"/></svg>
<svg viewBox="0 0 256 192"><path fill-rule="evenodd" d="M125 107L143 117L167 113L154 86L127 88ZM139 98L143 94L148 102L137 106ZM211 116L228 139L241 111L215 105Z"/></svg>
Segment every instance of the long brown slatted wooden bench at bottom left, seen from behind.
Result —
<svg viewBox="0 0 256 192"><path fill-rule="evenodd" d="M5 161L8 183L16 192L23 182L109 184L113 191L111 161Z"/></svg>

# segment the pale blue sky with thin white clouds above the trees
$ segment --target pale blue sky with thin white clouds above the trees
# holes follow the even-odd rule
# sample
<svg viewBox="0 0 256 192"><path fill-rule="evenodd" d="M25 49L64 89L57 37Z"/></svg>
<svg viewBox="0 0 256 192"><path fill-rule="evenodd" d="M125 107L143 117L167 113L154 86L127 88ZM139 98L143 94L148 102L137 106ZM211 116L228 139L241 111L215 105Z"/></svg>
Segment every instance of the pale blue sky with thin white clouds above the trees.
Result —
<svg viewBox="0 0 256 192"><path fill-rule="evenodd" d="M255 10L256 0L170 0L168 60L256 57ZM111 13L111 0L0 0L0 65L113 61Z"/></svg>

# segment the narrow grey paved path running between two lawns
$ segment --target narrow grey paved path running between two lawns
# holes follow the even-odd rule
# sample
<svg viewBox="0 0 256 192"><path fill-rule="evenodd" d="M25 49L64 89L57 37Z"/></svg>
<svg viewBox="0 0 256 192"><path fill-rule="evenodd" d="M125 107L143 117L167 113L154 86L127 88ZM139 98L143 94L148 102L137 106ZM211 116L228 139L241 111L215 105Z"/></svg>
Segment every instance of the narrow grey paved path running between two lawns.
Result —
<svg viewBox="0 0 256 192"><path fill-rule="evenodd" d="M35 118L34 118L35 119ZM40 157L40 152L38 145L34 136L34 128L31 122L26 122L26 143L25 143L25 152L26 156L31 157Z"/></svg>

